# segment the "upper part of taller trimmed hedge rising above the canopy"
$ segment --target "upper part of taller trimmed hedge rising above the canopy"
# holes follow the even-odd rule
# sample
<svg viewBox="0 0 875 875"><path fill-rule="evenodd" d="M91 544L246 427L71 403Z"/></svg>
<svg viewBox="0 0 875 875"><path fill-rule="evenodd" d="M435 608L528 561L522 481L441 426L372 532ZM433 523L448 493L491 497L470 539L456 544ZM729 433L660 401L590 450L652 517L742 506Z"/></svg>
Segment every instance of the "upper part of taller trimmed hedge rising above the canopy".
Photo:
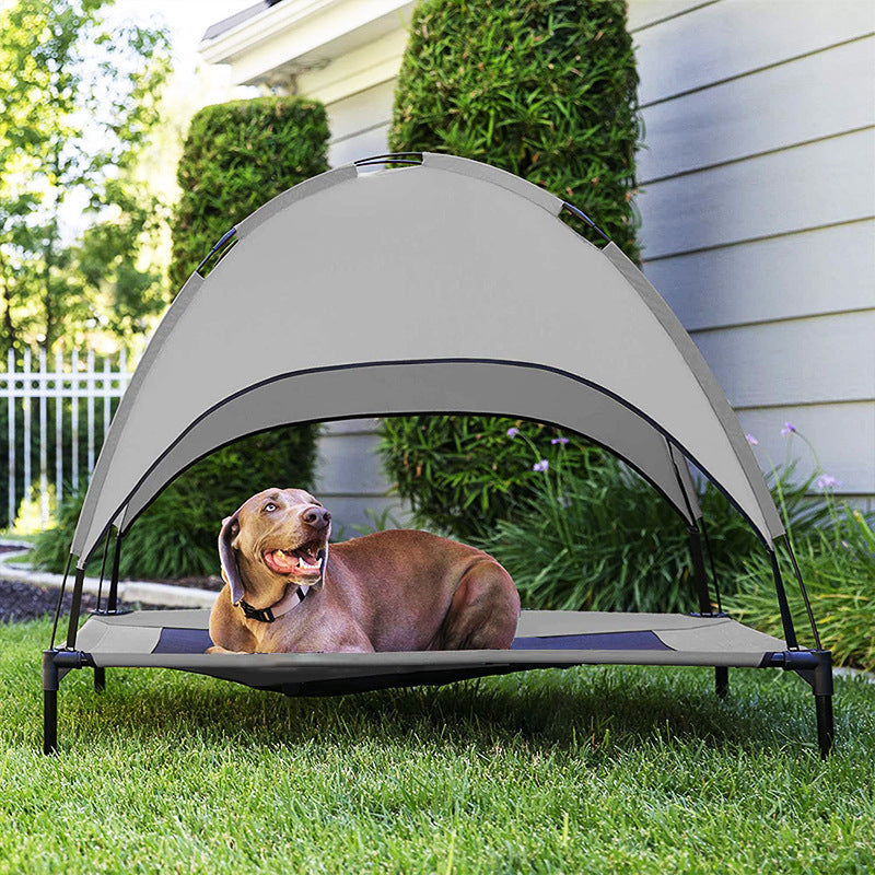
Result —
<svg viewBox="0 0 875 875"><path fill-rule="evenodd" d="M637 88L623 0L423 0L389 147L511 171L579 207L634 260Z"/></svg>

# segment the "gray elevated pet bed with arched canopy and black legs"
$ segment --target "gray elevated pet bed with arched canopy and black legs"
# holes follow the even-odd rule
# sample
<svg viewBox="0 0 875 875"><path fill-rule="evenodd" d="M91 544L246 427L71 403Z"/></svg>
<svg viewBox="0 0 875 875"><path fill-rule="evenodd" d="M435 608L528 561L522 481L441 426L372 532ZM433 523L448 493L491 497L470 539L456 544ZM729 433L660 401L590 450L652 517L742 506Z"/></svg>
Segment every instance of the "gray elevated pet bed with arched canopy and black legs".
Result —
<svg viewBox="0 0 875 875"><path fill-rule="evenodd" d="M720 695L730 667L792 669L814 690L826 756L830 653L810 609L815 646L797 643L777 545L792 551L738 421L644 276L615 244L572 231L563 211L595 228L485 164L384 155L295 186L219 241L156 329L94 469L68 563L77 560L66 642L56 646L52 630L44 653L47 752L59 679L72 668L93 667L98 687L107 667L170 667L313 696L615 663L712 666ZM194 462L278 425L412 413L525 418L615 453L686 524L697 612L524 611L510 651L212 655L209 611L118 611L126 533ZM784 640L712 598L688 462L770 555ZM79 629L85 565L113 528L105 608Z"/></svg>

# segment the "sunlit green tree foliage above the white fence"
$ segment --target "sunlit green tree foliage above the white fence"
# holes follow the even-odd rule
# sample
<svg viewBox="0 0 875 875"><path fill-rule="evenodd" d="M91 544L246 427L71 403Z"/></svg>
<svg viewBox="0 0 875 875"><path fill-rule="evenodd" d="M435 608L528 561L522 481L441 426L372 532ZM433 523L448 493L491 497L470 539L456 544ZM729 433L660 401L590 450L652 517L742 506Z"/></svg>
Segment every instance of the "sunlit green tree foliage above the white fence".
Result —
<svg viewBox="0 0 875 875"><path fill-rule="evenodd" d="M136 329L164 303L160 275L138 267L155 205L133 170L160 118L170 45L161 28L110 30L108 5L14 0L0 11L0 352L51 349L107 324L117 304ZM73 199L100 229L75 242ZM95 257L108 277L89 268Z"/></svg>

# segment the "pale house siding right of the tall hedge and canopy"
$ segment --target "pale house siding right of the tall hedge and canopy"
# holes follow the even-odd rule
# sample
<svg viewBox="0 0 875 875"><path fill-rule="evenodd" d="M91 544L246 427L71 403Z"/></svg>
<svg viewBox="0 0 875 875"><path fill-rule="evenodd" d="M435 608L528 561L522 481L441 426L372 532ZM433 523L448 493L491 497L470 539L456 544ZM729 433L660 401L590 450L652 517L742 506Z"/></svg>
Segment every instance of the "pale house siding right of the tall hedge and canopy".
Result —
<svg viewBox="0 0 875 875"><path fill-rule="evenodd" d="M644 270L763 468L875 494L875 4L632 2Z"/></svg>

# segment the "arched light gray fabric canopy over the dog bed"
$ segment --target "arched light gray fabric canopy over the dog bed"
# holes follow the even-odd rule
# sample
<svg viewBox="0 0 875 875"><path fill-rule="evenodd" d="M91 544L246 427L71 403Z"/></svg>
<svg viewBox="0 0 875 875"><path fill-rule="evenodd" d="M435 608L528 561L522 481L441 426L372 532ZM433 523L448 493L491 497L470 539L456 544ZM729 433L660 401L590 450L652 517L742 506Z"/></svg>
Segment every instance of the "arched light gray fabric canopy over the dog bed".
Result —
<svg viewBox="0 0 875 875"><path fill-rule="evenodd" d="M124 532L230 441L417 412L579 432L692 524L689 459L771 546L780 517L698 349L617 246L599 249L559 218L565 206L503 171L424 154L340 167L253 213L147 348L85 497L78 567L110 525Z"/></svg>

